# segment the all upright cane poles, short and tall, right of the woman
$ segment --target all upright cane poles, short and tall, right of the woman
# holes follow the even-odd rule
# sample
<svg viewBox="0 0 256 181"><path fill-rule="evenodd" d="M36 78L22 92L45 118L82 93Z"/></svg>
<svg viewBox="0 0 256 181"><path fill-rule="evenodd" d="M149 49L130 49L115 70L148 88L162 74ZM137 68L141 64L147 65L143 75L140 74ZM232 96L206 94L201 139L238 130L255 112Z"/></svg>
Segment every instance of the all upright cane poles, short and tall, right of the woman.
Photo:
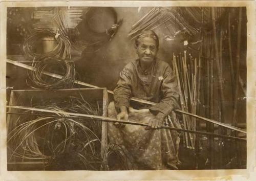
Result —
<svg viewBox="0 0 256 181"><path fill-rule="evenodd" d="M198 61L193 60L190 56L188 57L185 53L174 55L174 70L177 74L177 78L181 91L181 105L184 110L189 112L194 112L198 114L197 105L199 105L199 100L204 102L205 116L214 119L218 117L219 122L224 123L227 114L226 114L226 103L227 98L224 96L225 88L229 84L232 87L231 98L234 100L231 102L233 104L233 115L230 116L232 120L231 124L237 126L238 118L238 100L239 100L239 85L242 85L239 81L240 77L240 64L241 64L241 24L242 24L242 8L236 8L234 11L227 11L225 16L223 16L223 8L207 8L208 10L204 12L205 9L201 11L202 16L206 16L207 20L202 20L202 28L200 30L200 39L202 40L201 46L199 49ZM231 22L231 14L236 14L238 16L238 21ZM204 18L202 18L204 19ZM207 22L211 22L211 29L208 29L206 26L209 26ZM231 25L237 27L237 29L231 30ZM236 46L232 46L231 33L237 36ZM236 48L235 48L236 47ZM228 53L225 53L224 50L228 50ZM232 59L232 55L236 52L236 59ZM229 59L230 67L230 79L226 83L224 80L224 70L223 65L225 58ZM185 58L187 57L187 58ZM184 59L184 60L183 60ZM185 63L186 59L194 61L193 64ZM187 61L187 62L188 62ZM192 61L192 62L193 62ZM236 64L234 64L234 62ZM191 66L192 65L192 66ZM181 69L179 68L181 67ZM197 67L197 69L195 69ZM201 72L201 67L203 67ZM188 74L186 76L186 74ZM201 78L200 75L203 75L204 78ZM190 75L190 76L189 76ZM195 80L193 79L195 77ZM215 81L216 80L216 81ZM202 91L204 93L203 97L200 97L200 87L203 84ZM196 85L196 86L195 86ZM215 87L217 91L215 91ZM244 89L241 86L242 91L240 94L244 94ZM196 93L196 94L195 94ZM198 100L195 101L195 100ZM218 104L217 104L218 103ZM217 108L217 109L216 109ZM184 121L185 120L185 121ZM200 125L195 124L195 120L188 120L183 116L184 127L187 126L188 129L200 129ZM214 132L214 125L211 123L206 123L206 129L208 132ZM218 127L218 132L220 134L232 134L232 131L229 132L225 128ZM193 147L194 139L191 135L184 135L186 146ZM209 168L223 168L225 163L228 163L230 159L236 160L238 167L241 166L241 148L239 148L240 142L236 141L232 144L232 141L229 142L226 139L219 138L215 139L214 137L209 136L207 142L207 159L209 161ZM216 140L218 141L218 155L215 154L214 148L216 147ZM188 144L187 144L188 142ZM236 148L236 152L230 153L229 149ZM215 159L218 157L219 159ZM218 160L218 161L217 161ZM218 164L218 165L217 165Z"/></svg>

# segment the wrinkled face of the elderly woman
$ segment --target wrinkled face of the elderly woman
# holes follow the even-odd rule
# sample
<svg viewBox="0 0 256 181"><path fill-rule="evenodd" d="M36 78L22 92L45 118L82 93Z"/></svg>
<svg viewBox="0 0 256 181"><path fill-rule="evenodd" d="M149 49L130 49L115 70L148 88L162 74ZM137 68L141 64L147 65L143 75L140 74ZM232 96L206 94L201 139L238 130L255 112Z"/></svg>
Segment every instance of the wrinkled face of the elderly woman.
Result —
<svg viewBox="0 0 256 181"><path fill-rule="evenodd" d="M144 37L139 41L136 47L136 53L143 63L151 63L157 55L156 41L151 37Z"/></svg>

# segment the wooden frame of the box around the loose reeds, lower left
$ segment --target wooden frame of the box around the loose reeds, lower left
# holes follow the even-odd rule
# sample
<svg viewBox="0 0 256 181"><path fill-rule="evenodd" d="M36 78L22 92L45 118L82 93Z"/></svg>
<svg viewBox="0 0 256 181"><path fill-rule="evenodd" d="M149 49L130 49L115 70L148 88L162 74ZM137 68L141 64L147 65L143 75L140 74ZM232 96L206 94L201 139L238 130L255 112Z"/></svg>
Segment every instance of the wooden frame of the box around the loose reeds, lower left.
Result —
<svg viewBox="0 0 256 181"><path fill-rule="evenodd" d="M10 106L27 105L30 100L36 102L38 100L54 100L63 99L66 95L75 96L78 95L78 90L83 94L84 99L87 101L98 101L102 100L102 112L101 116L108 116L108 92L106 88L71 88L71 89L57 89L57 90L42 90L42 89L22 89L22 90L12 90L10 95ZM64 98L65 99L65 98ZM7 108L8 112L12 112L12 108ZM15 109L15 112L19 110ZM18 115L8 114L7 115L7 131L16 126L15 120L17 120ZM108 145L108 123L102 122L101 130L101 156L104 154L106 145ZM8 155L8 152L7 152ZM12 161L7 162L8 170L44 170L45 162L42 161ZM36 165L36 169L35 166Z"/></svg>

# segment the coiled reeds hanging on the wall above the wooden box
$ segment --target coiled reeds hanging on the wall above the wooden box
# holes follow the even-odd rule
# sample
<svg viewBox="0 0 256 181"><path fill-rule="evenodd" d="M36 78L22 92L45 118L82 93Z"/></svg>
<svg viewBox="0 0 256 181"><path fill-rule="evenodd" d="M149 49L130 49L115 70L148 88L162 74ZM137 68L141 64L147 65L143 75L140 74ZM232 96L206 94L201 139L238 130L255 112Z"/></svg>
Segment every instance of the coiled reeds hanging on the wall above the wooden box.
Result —
<svg viewBox="0 0 256 181"><path fill-rule="evenodd" d="M28 73L30 80L34 83L31 87L46 89L72 87L76 72L74 62L71 61L72 44L68 36L69 27L65 23L67 16L61 8L53 8L49 11L53 13L47 15L47 9L34 12L34 16L40 19L36 28L41 29L35 28L23 43L24 54L33 60L34 71ZM50 17L48 18L48 16ZM45 24L49 25L46 26ZM74 22L72 26L74 26ZM53 27L53 29L48 27ZM36 53L36 48L40 46L38 41L46 37L53 38L53 41L56 41L56 46L50 52ZM42 72L61 72L63 78L61 80L49 80L47 76L42 75Z"/></svg>

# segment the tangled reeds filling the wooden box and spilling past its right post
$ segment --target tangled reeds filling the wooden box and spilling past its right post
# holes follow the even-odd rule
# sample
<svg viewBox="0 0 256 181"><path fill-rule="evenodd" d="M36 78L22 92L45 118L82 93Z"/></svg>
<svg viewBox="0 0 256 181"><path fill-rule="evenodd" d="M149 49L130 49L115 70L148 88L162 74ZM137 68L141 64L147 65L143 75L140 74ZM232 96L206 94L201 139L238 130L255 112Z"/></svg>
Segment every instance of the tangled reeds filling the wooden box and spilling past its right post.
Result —
<svg viewBox="0 0 256 181"><path fill-rule="evenodd" d="M80 95L31 107L99 116L101 104L87 102ZM7 137L9 161L42 161L46 170L108 170L109 157L114 154L125 169L126 157L118 145L108 145L101 155L100 121L67 114L37 114L29 109L16 114L17 125Z"/></svg>

